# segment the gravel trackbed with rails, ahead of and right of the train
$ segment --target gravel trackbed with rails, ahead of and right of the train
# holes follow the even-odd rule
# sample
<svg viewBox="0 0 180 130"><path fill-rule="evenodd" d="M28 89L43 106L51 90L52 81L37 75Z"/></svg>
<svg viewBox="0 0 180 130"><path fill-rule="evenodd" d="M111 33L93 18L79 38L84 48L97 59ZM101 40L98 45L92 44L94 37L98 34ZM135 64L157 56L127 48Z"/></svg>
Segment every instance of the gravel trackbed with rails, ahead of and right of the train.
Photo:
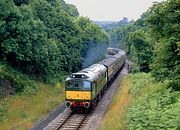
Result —
<svg viewBox="0 0 180 130"><path fill-rule="evenodd" d="M122 71L117 75L116 79L109 86L109 89L104 93L102 99L97 104L96 108L88 114L73 113L71 109L66 108L58 117L56 117L43 130L89 130L98 129L104 114L108 110L108 105L112 97L115 95L121 78L128 73L128 63L126 62Z"/></svg>

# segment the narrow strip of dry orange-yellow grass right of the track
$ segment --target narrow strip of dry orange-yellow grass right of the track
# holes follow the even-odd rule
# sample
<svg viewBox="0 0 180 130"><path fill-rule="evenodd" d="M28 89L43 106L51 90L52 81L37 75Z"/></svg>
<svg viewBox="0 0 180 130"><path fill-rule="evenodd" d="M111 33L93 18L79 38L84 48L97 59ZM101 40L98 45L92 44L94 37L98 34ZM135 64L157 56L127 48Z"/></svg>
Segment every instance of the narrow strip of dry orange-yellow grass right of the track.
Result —
<svg viewBox="0 0 180 130"><path fill-rule="evenodd" d="M131 81L128 77L123 78L121 87L106 113L101 125L102 130L126 129L126 109L131 102L129 94Z"/></svg>

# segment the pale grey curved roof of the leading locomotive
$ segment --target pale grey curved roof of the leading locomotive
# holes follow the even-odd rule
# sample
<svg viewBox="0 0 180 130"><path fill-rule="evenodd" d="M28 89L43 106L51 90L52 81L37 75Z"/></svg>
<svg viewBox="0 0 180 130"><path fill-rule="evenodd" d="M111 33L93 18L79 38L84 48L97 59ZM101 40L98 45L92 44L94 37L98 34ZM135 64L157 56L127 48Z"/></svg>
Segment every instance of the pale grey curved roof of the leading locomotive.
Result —
<svg viewBox="0 0 180 130"><path fill-rule="evenodd" d="M102 74L104 74L107 71L106 67L102 64L93 64L89 66L88 68L85 68L77 73L73 73L70 77L68 77L66 80L71 79L84 79L88 81L95 81L99 78Z"/></svg>

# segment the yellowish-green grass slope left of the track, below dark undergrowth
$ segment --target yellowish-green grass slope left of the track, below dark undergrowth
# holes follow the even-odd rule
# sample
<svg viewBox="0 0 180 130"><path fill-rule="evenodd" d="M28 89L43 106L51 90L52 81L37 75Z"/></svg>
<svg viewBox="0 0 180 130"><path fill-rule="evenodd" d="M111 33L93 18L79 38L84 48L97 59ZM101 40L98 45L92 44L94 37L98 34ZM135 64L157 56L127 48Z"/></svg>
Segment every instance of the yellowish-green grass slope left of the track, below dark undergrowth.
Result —
<svg viewBox="0 0 180 130"><path fill-rule="evenodd" d="M14 95L0 101L4 108L4 118L0 122L0 130L24 130L50 112L55 106L64 101L63 84L54 87L42 83L40 90L35 95Z"/></svg>

